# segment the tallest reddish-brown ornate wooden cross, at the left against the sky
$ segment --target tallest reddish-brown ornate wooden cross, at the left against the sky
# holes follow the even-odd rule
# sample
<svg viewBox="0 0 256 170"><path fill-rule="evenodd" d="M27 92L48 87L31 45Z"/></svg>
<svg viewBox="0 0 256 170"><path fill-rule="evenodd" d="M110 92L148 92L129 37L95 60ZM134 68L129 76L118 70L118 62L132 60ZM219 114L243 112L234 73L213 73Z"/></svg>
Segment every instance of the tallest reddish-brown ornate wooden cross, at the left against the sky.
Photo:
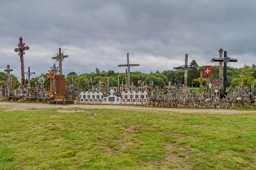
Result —
<svg viewBox="0 0 256 170"><path fill-rule="evenodd" d="M22 43L22 37L20 37L20 42L18 44L18 48L15 48L14 51L15 52L18 52L19 51L19 54L20 55L20 63L21 63L21 81L20 81L20 84L21 84L21 88L25 88L25 76L24 76L24 61L23 61L23 55L25 54L25 50L28 50L29 47L26 46L25 47L25 43Z"/></svg>

